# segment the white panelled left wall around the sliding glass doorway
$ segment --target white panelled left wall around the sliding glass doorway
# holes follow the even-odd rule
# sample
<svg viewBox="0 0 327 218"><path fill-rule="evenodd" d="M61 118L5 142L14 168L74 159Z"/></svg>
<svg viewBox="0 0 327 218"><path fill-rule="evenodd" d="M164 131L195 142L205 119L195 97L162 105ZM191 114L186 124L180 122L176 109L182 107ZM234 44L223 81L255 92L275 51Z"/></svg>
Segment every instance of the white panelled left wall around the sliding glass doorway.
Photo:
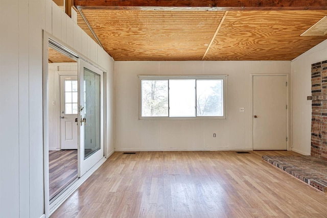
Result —
<svg viewBox="0 0 327 218"><path fill-rule="evenodd" d="M108 154L114 150L113 60L51 0L0 1L0 29L0 216L41 217L42 30L107 71Z"/></svg>

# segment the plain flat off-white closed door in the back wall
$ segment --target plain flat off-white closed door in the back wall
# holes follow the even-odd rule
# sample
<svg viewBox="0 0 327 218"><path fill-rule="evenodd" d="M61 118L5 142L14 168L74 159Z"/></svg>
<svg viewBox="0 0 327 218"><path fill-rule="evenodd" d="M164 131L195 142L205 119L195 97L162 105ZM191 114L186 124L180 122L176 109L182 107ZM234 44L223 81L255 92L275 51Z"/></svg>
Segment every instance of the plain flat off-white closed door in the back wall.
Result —
<svg viewBox="0 0 327 218"><path fill-rule="evenodd" d="M253 150L287 149L287 76L253 76Z"/></svg>

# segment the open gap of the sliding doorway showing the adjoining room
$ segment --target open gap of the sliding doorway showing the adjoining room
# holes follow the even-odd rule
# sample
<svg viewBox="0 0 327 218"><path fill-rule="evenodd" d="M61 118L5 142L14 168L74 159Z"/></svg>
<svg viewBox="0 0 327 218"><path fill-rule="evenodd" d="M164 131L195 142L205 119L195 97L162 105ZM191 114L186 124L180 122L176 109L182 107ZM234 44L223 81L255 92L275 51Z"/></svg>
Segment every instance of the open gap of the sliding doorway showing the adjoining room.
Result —
<svg viewBox="0 0 327 218"><path fill-rule="evenodd" d="M48 51L49 200L53 202L78 178L78 64L51 44Z"/></svg>

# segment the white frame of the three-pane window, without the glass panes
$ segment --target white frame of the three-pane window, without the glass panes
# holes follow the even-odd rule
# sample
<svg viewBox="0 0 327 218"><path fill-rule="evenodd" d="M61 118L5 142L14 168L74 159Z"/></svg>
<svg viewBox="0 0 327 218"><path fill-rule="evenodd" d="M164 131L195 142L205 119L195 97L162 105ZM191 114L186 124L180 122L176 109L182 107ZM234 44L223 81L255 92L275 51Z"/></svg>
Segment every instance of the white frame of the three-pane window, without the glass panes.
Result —
<svg viewBox="0 0 327 218"><path fill-rule="evenodd" d="M138 75L138 119L227 119L227 78L228 75L196 75L196 76L155 76ZM194 117L170 117L168 116L142 116L142 80L223 80L223 116L194 116ZM169 99L169 93L168 93ZM169 101L169 100L168 100ZM196 106L195 106L196 107ZM168 109L169 110L169 109ZM196 113L195 113L196 114Z"/></svg>

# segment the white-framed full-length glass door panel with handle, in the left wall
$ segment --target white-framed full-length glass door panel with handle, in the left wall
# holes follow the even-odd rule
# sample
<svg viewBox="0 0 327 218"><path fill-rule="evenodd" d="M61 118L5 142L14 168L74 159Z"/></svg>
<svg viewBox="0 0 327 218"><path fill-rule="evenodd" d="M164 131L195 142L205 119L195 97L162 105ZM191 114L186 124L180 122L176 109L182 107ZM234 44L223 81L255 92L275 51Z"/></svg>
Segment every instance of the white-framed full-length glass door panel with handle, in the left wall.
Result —
<svg viewBox="0 0 327 218"><path fill-rule="evenodd" d="M103 72L79 60L79 172L103 158Z"/></svg>

